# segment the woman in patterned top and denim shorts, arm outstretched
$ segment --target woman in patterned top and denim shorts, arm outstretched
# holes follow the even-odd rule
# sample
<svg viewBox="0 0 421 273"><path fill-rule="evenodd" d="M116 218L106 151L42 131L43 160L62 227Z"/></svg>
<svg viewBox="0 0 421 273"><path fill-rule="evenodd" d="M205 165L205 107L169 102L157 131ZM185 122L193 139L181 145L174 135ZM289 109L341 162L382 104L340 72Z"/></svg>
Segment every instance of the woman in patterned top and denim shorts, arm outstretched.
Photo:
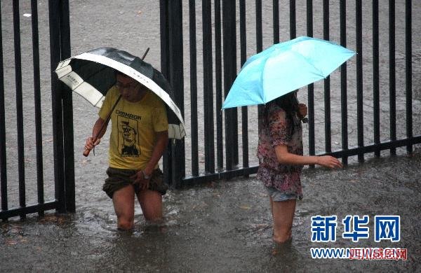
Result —
<svg viewBox="0 0 421 273"><path fill-rule="evenodd" d="M302 199L300 173L303 165L342 167L338 159L303 156L301 119L307 107L298 104L295 93L285 94L265 105L259 119L259 169L257 178L269 194L276 243L291 238L295 203Z"/></svg>

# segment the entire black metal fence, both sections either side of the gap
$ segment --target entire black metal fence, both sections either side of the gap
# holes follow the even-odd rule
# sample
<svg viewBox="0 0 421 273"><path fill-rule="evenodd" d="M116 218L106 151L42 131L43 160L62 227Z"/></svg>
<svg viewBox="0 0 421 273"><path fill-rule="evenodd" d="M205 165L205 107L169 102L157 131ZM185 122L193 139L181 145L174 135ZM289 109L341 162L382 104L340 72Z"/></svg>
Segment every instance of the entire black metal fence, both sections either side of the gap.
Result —
<svg viewBox="0 0 421 273"><path fill-rule="evenodd" d="M401 0L396 3L394 0L370 1L370 43L366 43L367 29L363 25L367 20L366 10L363 6L369 1L345 1L338 0L302 0L305 3L305 16L298 16L302 6L298 1L273 0L271 2L270 14L268 14L267 1L234 1L234 0L160 0L161 8L161 70L168 77L175 90L178 105L182 113L185 113L185 106L189 120L187 131L189 136L184 141L173 141L169 145L166 155L164 155L164 175L175 188L187 186L203 181L213 181L217 179L230 179L234 176L247 176L257 171L257 166L250 166L250 152L253 153L255 139L250 138L251 134L257 132L257 113L259 109L241 107L241 109L229 109L222 112L223 98L227 95L236 73L241 65L246 62L248 55L263 50L265 41L267 45L278 43L282 33L288 32L288 37L295 38L297 29L302 26L305 20L305 35L314 36L314 20L322 18L322 33L317 33L326 40L330 40L331 34L335 34L330 29L330 20L338 20L339 33L336 39L341 45L347 46L349 32L352 32L351 40L355 43L355 50L358 52L353 69L349 69L349 64L344 64L340 68L338 75L338 86L340 106L334 109L332 104L335 93L332 86L335 85L335 78L328 77L323 81L323 96L321 99L315 98L316 84L307 87L307 106L309 108L308 125L308 153L310 155L330 154L337 158L342 158L342 162L347 164L349 157L357 156L359 162L363 162L367 153L373 153L375 157L380 156L380 152L389 150L389 153L396 154L396 148L406 147L407 153L413 152L413 145L421 143L421 136L413 132L413 87L412 87L412 1ZM380 6L380 3L382 6ZM72 96L71 92L62 92L66 87L60 83L53 72L51 72L51 111L52 111L52 134L53 134L53 165L54 165L54 200L46 202L44 199L44 166L45 160L43 149L43 129L41 124L41 83L40 83L40 62L39 62L39 30L38 30L38 10L37 1L31 3L32 21L32 57L33 57L33 88L34 88L34 127L36 139L36 191L37 204L26 204L25 179L25 123L24 114L26 110L22 102L28 99L22 92L22 56L21 56L21 31L20 31L20 1L13 0L13 42L14 42L14 68L15 68L15 118L16 130L10 128L10 120L6 119L5 109L5 80L4 80L4 41L3 25L0 23L0 198L1 211L0 219L7 220L13 216L25 218L26 214L38 213L43 215L44 211L55 209L58 212L74 211L74 149L73 149L73 120L72 120ZM28 2L25 2L28 3ZM317 3L317 6L315 5ZM319 3L321 3L319 5ZM352 3L352 8L347 5ZM385 7L386 5L386 7ZM405 18L404 27L396 31L396 7L402 10ZM0 22L1 9L0 3ZM201 8L201 13L196 10ZM316 13L314 8L318 8ZM332 8L335 8L335 13ZM380 31L384 27L380 23L380 8L388 10L387 14L387 34ZM185 11L188 10L188 16ZM250 15L250 10L252 14ZM355 11L354 11L355 10ZM51 62L48 71L53 71L61 59L70 56L69 40L69 3L68 0L48 1L48 20L50 36ZM353 25L349 25L349 17L352 14ZM270 15L270 16L269 16ZM285 16L288 15L288 16ZM268 16L272 19L268 27ZM336 17L335 17L336 16ZM183 21L183 18L188 18ZM288 20L286 24L281 24L282 20ZM305 19L303 19L305 18ZM250 22L253 22L253 31L250 32ZM187 26L187 27L186 27ZM201 27L201 29L199 27ZM264 27L265 26L265 27ZM188 44L183 39L183 30L189 29ZM267 31L272 30L270 43L267 43ZM318 28L319 29L319 28ZM265 31L264 31L265 30ZM253 36L250 37L250 33ZM404 34L404 85L398 85L396 78L396 34ZM248 36L247 36L248 35ZM266 35L266 36L265 36ZM384 115L380 102L384 99L384 86L380 79L385 71L381 66L382 56L380 54L381 37L387 36L387 78L389 90L388 99L388 120L387 132L385 133ZM253 41L250 45L250 40ZM198 41L199 44L198 46ZM401 41L399 41L401 42ZM367 44L370 46L367 50ZM364 45L364 46L363 46ZM188 50L187 50L188 49ZM363 51L364 50L364 51ZM184 54L188 51L189 54ZM366 52L370 52L370 61L364 59ZM368 54L367 54L368 55ZM188 59L188 62L185 62ZM371 64L370 77L367 77L364 64ZM185 75L184 68L187 64L189 73ZM198 65L199 64L199 65ZM399 64L400 65L400 64ZM7 66L9 67L9 66ZM347 70L348 69L348 70ZM349 71L352 72L350 76ZM384 77L384 76L383 76ZM370 78L368 83L367 78ZM187 79L185 81L185 79ZM203 80L202 80L203 79ZM200 80L200 81L199 81ZM400 81L399 83L402 83ZM185 88L187 86L187 88ZM398 88L396 88L396 86ZM369 87L369 88L368 88ZM185 90L186 89L186 90ZM364 127L367 115L364 115L365 92L370 89L372 97L373 122L369 126L373 127L373 135L367 139L367 129ZM7 88L7 92L13 92ZM300 92L302 93L302 92ZM396 113L396 98L405 99L405 114L403 115L405 133L399 134L396 126L398 116ZM322 101L322 104L319 103ZM353 109L353 103L356 107ZM315 107L315 105L317 107ZM323 112L319 110L321 106ZM257 111L255 111L257 110ZM253 112L255 111L255 112ZM338 111L338 115L335 115ZM354 114L354 115L351 115ZM202 116L203 115L203 116ZM322 116L323 136L318 131L319 127L315 117ZM355 120L350 120L349 116ZM340 129L333 133L333 118L340 116ZM399 121L401 121L400 119ZM356 123L356 133L349 128L350 122ZM383 123L382 123L383 121ZM320 123L319 123L320 125ZM417 126L419 126L417 124ZM202 130L203 127L203 130ZM335 128L334 128L335 129ZM6 146L5 139L8 139L8 132L16 132L16 153L10 152ZM370 131L369 130L369 131ZM371 132L370 132L371 133ZM336 143L334 138L339 134L340 141ZM356 135L356 144L350 144L349 134ZM387 139L385 139L387 134ZM241 137L240 137L241 135ZM321 141L321 139L323 141ZM323 148L320 146L323 142ZM335 144L335 145L333 145ZM7 144L9 145L9 144ZM339 147L338 147L339 146ZM187 153L186 153L187 151ZM10 154L10 156L8 156ZM17 169L8 169L8 162L17 158ZM240 163L241 158L241 163ZM241 166L239 166L241 164ZM188 172L186 172L186 169ZM19 207L11 207L8 202L8 189L11 183L10 172L18 172L18 202ZM14 182L14 181L13 181Z"/></svg>

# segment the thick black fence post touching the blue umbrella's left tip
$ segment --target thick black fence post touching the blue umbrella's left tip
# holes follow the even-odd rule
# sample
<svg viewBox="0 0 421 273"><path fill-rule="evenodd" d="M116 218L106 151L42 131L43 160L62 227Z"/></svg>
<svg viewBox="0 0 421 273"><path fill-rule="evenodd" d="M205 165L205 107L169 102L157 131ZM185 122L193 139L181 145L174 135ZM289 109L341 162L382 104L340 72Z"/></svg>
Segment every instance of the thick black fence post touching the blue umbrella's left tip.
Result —
<svg viewBox="0 0 421 273"><path fill-rule="evenodd" d="M229 88L236 78L236 3L234 0L222 1L222 34L223 34L223 57L224 57L224 90L227 97ZM235 118L236 109L225 110L225 158L227 170L233 169L235 160L234 145L236 143ZM238 142L238 141L237 141ZM238 148L238 147L237 147ZM228 179L231 176L227 177Z"/></svg>

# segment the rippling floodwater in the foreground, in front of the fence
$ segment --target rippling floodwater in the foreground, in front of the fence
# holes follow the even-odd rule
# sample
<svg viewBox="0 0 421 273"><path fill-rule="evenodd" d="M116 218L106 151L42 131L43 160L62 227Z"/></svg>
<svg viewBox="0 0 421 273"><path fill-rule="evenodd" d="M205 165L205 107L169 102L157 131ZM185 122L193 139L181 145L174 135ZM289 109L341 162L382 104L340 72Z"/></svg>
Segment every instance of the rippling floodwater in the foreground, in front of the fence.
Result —
<svg viewBox="0 0 421 273"><path fill-rule="evenodd" d="M4 272L419 272L421 151L329 171L305 169L293 241L272 243L268 197L254 176L165 196L165 223L116 231L112 203L86 202L76 214L30 216L0 224ZM93 198L94 199L94 198ZM87 200L88 201L88 200ZM94 201L94 200L93 200ZM139 207L137 205L137 207ZM312 243L311 217L368 215L370 237ZM373 216L401 216L399 242L375 242ZM402 260L313 259L312 247L407 248Z"/></svg>

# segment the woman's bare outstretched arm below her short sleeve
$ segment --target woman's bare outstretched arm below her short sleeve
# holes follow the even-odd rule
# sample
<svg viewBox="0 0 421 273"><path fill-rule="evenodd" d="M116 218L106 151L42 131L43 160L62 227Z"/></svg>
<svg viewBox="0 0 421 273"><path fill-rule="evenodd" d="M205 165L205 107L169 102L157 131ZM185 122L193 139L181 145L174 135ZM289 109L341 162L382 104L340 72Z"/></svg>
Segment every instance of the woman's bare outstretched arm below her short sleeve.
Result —
<svg viewBox="0 0 421 273"><path fill-rule="evenodd" d="M276 158L279 163L290 164L290 165L321 165L328 168L342 168L342 163L330 155L323 156L303 156L295 155L288 152L286 145L275 146Z"/></svg>

